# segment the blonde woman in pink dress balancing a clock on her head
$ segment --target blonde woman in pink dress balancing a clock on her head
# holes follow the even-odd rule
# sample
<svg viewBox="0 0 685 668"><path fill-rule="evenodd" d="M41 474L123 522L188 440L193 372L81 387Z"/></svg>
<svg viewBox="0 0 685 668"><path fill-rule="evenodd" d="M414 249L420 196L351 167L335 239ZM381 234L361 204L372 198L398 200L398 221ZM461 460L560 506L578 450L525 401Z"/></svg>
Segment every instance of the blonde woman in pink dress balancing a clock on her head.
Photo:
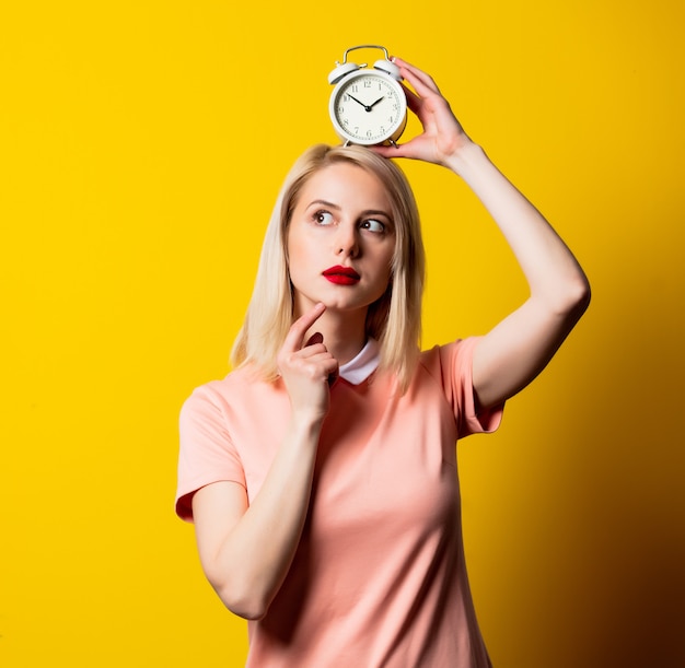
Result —
<svg viewBox="0 0 685 668"><path fill-rule="evenodd" d="M248 666L489 666L468 589L455 442L497 429L590 289L545 219L396 59L423 131L316 147L269 224L237 368L182 411L177 512L205 573L249 621ZM530 297L487 335L419 353L423 249L387 157L461 176Z"/></svg>

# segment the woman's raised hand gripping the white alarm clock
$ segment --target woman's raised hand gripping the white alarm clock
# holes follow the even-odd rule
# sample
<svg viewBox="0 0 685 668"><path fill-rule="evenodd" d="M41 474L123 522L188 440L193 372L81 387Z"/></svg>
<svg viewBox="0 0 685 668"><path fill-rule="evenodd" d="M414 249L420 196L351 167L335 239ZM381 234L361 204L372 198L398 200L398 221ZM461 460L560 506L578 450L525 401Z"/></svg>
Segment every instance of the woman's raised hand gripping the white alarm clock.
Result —
<svg viewBox="0 0 685 668"><path fill-rule="evenodd" d="M450 159L473 142L433 79L400 58L395 58L394 62L416 91L403 85L407 105L421 121L423 132L397 147L373 147L372 150L385 157L409 157L450 166Z"/></svg>

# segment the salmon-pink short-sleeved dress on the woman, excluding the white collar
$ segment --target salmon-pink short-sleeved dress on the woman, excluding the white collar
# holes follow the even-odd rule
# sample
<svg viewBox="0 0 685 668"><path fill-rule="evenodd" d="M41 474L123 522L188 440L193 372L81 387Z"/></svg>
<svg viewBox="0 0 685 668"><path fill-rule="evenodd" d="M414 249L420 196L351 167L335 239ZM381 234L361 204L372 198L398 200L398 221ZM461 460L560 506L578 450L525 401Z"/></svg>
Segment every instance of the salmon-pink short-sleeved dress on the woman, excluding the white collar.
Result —
<svg viewBox="0 0 685 668"><path fill-rule="evenodd" d="M266 617L251 621L247 666L485 668L468 587L457 440L495 431L476 414L477 338L421 354L408 391L372 373L332 389L309 517ZM220 480L259 492L289 417L280 382L239 370L195 390L181 418L176 512Z"/></svg>

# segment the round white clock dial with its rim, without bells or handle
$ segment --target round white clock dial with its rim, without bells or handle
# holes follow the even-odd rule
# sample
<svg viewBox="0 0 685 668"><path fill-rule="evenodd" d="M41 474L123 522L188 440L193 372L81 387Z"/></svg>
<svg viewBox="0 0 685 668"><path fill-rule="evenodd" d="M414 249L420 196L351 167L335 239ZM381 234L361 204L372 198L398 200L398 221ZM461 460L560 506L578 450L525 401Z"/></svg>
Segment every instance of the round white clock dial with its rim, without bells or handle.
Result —
<svg viewBox="0 0 685 668"><path fill-rule="evenodd" d="M346 77L330 97L334 126L344 139L357 144L397 139L406 124L406 112L402 86L372 70Z"/></svg>

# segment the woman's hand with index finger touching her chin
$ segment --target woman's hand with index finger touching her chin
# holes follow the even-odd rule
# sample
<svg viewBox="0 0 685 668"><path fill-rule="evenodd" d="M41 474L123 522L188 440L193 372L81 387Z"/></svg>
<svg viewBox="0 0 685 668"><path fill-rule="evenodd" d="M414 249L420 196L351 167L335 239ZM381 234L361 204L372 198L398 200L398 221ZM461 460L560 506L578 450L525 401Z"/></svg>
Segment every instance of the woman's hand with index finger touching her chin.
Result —
<svg viewBox="0 0 685 668"><path fill-rule="evenodd" d="M295 418L322 422L330 405L329 379L338 373L338 361L328 352L318 332L305 342L310 328L326 310L318 303L298 318L278 353L278 370L286 384Z"/></svg>

